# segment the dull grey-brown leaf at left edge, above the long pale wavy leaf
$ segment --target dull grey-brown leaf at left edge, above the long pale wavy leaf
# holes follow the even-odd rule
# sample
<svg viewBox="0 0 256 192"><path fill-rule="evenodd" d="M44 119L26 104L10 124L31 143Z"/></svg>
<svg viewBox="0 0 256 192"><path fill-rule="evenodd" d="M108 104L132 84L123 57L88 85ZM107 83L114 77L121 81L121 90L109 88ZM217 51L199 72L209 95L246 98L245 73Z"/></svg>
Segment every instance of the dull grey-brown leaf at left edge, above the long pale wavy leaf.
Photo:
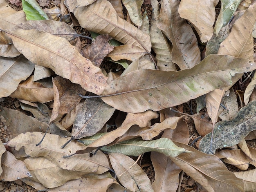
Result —
<svg viewBox="0 0 256 192"><path fill-rule="evenodd" d="M40 131L45 132L48 125L47 123L40 122L36 118L27 116L17 110L0 107L0 115L6 119L5 125L10 132L10 138L16 137L18 134L27 131Z"/></svg>

